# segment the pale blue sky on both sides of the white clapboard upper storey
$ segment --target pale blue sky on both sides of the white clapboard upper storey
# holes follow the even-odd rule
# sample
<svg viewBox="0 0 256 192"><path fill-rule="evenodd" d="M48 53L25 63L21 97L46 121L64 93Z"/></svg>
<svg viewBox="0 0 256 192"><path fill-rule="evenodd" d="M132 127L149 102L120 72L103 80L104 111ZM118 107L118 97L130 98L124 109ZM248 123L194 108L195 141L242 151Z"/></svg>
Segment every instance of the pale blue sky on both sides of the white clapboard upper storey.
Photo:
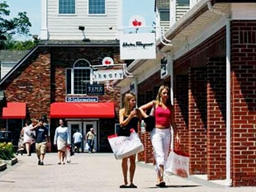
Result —
<svg viewBox="0 0 256 192"><path fill-rule="evenodd" d="M18 12L26 12L31 21L31 34L40 36L40 2L41 0L3 0L9 5L11 16ZM3 2L1 0L1 2ZM145 18L145 26L152 26L154 21L154 0L122 0L123 1L123 26L129 26L132 16Z"/></svg>

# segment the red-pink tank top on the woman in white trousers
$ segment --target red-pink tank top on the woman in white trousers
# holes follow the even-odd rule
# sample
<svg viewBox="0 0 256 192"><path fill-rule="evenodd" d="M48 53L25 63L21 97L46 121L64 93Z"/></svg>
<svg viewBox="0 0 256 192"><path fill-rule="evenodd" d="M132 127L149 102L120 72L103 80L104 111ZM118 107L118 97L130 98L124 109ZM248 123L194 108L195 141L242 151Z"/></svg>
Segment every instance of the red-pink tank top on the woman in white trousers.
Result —
<svg viewBox="0 0 256 192"><path fill-rule="evenodd" d="M171 110L167 107L163 109L161 106L157 106L154 111L155 124L161 125L164 128L170 127Z"/></svg>

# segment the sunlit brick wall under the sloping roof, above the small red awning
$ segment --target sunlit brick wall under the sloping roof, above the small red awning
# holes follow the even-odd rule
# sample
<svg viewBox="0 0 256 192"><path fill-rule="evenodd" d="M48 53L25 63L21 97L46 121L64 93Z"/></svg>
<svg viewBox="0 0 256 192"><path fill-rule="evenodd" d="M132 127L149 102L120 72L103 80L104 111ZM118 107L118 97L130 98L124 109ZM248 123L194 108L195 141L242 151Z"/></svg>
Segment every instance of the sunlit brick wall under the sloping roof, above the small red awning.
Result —
<svg viewBox="0 0 256 192"><path fill-rule="evenodd" d="M25 86L22 86L25 85ZM50 114L50 54L39 54L24 72L17 76L5 94L9 102L26 102L28 117Z"/></svg>

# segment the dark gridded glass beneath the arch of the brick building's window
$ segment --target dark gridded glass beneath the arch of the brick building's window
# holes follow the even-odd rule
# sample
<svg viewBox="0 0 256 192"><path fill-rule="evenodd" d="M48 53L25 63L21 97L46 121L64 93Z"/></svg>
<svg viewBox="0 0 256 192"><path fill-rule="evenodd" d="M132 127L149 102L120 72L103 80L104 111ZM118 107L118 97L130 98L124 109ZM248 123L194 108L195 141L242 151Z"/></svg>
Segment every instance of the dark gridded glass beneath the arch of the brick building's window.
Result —
<svg viewBox="0 0 256 192"><path fill-rule="evenodd" d="M73 69L73 93L86 94L86 84L90 83L90 68Z"/></svg>

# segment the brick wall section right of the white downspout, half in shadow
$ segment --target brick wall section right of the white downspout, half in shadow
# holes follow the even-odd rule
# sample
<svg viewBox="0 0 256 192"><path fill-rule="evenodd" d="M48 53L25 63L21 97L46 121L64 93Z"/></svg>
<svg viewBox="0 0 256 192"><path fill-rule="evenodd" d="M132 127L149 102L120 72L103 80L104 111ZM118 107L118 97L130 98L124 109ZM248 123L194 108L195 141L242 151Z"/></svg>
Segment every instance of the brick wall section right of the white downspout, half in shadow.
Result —
<svg viewBox="0 0 256 192"><path fill-rule="evenodd" d="M232 179L256 185L256 21L232 21Z"/></svg>

